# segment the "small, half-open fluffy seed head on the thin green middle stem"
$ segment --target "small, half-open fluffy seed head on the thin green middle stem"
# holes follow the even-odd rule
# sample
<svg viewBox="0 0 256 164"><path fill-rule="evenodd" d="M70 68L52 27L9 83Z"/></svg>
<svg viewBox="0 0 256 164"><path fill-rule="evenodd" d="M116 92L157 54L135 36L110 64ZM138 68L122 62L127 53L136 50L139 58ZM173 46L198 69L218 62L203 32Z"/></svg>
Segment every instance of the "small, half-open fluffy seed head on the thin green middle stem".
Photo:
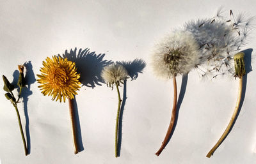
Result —
<svg viewBox="0 0 256 164"><path fill-rule="evenodd" d="M114 84L119 86L120 82L125 80L128 76L127 70L121 64L113 63L109 66L105 66L102 70L101 77L107 83L109 87L113 87Z"/></svg>

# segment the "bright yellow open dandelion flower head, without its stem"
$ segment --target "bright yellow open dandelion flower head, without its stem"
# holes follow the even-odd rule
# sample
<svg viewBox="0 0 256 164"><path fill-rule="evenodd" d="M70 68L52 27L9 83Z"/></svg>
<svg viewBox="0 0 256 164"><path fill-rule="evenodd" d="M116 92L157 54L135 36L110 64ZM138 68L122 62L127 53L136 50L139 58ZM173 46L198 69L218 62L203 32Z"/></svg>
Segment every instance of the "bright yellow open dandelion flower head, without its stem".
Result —
<svg viewBox="0 0 256 164"><path fill-rule="evenodd" d="M68 61L67 58L59 56L47 57L43 61L43 66L40 68L41 75L37 75L39 79L38 83L42 84L38 86L42 90L42 94L46 96L52 96L52 100L56 101L66 100L66 98L72 100L74 95L77 94L77 90L81 87L79 82L80 75L76 72L76 64L72 61Z"/></svg>

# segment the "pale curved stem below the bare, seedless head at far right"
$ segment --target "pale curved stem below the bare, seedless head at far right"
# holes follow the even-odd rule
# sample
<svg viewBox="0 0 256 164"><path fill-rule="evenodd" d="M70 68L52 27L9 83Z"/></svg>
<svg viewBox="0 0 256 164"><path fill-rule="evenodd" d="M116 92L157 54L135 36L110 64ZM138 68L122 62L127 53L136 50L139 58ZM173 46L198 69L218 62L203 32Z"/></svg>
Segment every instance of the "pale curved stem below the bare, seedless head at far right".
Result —
<svg viewBox="0 0 256 164"><path fill-rule="evenodd" d="M210 158L212 156L212 154L214 153L214 151L216 151L216 149L219 147L221 142L223 142L223 140L227 137L228 131L230 130L232 124L234 123L234 120L235 120L235 118L237 116L237 112L238 112L238 109L239 109L240 101L241 101L242 88L243 88L243 76L239 80L239 89L238 89L238 96L237 96L237 101L236 101L236 108L235 108L235 110L234 110L234 112L232 114L231 120L228 123L228 126L227 126L226 130L221 135L221 137L218 140L218 142L214 145L214 147L212 147L211 151L209 151L209 153L206 155L208 158Z"/></svg>

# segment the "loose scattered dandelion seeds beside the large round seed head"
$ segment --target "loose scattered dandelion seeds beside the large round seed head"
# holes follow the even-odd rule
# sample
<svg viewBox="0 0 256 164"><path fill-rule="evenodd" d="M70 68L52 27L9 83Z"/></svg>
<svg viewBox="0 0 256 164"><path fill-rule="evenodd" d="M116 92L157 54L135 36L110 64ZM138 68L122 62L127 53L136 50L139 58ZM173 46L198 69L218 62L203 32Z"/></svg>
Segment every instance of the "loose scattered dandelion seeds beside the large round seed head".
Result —
<svg viewBox="0 0 256 164"><path fill-rule="evenodd" d="M211 73L218 75L234 75L234 55L246 45L248 34L252 29L253 17L246 19L239 13L234 17L230 10L230 19L221 16L212 19L191 20L184 25L184 31L193 34L200 45L200 65L204 68L202 76Z"/></svg>

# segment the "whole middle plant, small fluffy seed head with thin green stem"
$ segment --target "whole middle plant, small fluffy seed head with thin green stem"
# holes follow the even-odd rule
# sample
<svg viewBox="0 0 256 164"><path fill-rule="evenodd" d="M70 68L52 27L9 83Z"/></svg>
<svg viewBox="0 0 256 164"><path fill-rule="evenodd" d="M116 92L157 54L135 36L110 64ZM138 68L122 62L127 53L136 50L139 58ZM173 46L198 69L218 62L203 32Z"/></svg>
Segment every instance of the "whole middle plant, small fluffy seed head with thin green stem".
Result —
<svg viewBox="0 0 256 164"><path fill-rule="evenodd" d="M121 106L121 97L119 86L120 83L124 84L124 80L128 77L127 70L121 64L113 63L109 66L104 67L101 73L101 77L105 80L108 87L113 89L116 86L116 91L118 94L118 107L116 114L116 128L115 128L115 157L118 156L118 125L119 125L119 117L120 117L120 106Z"/></svg>

